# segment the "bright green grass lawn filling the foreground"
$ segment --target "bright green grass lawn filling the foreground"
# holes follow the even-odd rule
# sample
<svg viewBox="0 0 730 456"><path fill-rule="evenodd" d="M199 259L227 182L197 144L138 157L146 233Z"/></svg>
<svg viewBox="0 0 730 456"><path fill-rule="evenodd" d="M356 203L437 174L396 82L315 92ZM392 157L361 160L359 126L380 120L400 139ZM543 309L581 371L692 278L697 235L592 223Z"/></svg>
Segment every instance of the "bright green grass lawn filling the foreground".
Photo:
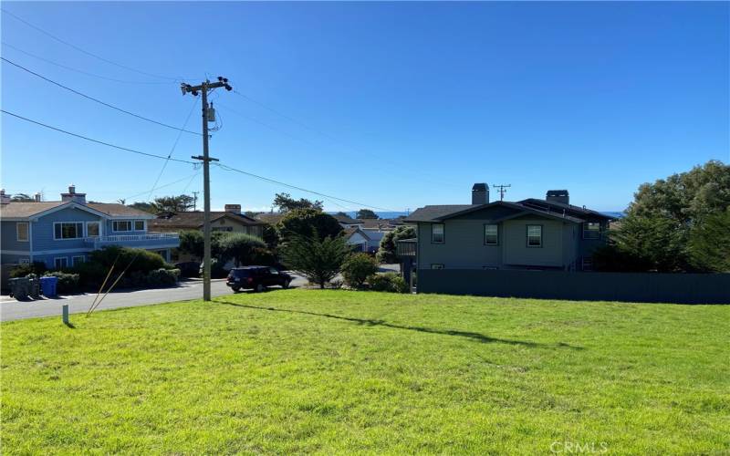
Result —
<svg viewBox="0 0 730 456"><path fill-rule="evenodd" d="M3 453L730 454L730 306L288 290L72 321L0 326Z"/></svg>

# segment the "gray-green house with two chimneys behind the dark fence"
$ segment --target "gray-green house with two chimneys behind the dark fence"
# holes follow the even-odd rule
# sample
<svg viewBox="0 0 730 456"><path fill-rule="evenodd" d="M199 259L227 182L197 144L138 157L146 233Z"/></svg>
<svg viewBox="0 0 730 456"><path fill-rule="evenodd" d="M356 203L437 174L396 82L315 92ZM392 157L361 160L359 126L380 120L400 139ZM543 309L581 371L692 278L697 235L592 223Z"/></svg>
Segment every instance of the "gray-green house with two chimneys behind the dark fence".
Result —
<svg viewBox="0 0 730 456"><path fill-rule="evenodd" d="M405 222L417 225L418 269L589 271L610 220L571 205L565 190L489 202L489 187L476 183L471 204L425 206Z"/></svg>

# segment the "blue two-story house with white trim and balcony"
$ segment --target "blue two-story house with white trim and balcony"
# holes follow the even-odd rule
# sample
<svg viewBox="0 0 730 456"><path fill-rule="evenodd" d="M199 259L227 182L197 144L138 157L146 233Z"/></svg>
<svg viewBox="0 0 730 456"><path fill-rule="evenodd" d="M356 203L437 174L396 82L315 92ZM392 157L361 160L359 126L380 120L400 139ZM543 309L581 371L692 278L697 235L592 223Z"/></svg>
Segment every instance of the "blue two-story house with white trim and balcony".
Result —
<svg viewBox="0 0 730 456"><path fill-rule="evenodd" d="M106 202L87 202L71 185L61 201L12 202L0 195L0 263L43 262L49 268L68 267L106 245L139 247L170 259L180 245L177 233L148 233L155 216Z"/></svg>

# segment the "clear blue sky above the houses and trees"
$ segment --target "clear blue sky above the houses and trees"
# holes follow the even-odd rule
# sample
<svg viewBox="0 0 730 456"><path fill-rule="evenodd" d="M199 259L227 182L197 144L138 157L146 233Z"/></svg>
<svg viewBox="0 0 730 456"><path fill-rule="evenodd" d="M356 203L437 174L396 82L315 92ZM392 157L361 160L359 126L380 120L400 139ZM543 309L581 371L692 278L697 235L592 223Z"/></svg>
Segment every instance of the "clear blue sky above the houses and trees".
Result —
<svg viewBox="0 0 730 456"><path fill-rule="evenodd" d="M224 75L255 103L214 93L222 128L212 156L381 208L468 203L471 185L486 181L511 183L507 200L567 188L575 204L616 211L641 182L730 161L727 3L3 7L91 53L169 79L89 57L7 15L5 43L134 83L72 72L7 46L3 57L176 126L195 100L172 78L199 83L206 74ZM6 63L2 96L3 109L131 149L167 155L177 137ZM199 131L194 109L187 127ZM73 182L95 201L143 201L162 169L162 161L7 115L2 133L7 192L43 191L54 200ZM200 137L183 134L172 156L199 153ZM152 196L202 190L195 173L169 163L159 185L176 183ZM212 170L214 208L235 202L262 210L276 192L313 198ZM359 208L331 200L325 207Z"/></svg>

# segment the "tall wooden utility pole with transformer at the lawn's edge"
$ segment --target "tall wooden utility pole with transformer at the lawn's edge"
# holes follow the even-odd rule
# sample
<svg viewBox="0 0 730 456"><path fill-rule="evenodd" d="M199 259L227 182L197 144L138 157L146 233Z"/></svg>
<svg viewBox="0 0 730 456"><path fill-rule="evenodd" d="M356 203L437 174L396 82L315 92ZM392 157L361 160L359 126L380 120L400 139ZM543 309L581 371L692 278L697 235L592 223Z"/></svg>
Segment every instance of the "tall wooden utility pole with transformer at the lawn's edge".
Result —
<svg viewBox="0 0 730 456"><path fill-rule="evenodd" d="M180 85L183 95L190 92L193 97L198 93L203 97L203 156L193 156L195 160L203 161L203 301L211 300L211 172L210 162L218 161L208 155L208 90L214 88L225 88L232 90L228 85L228 79L218 77L218 82L211 82L207 79L199 86L190 84Z"/></svg>

